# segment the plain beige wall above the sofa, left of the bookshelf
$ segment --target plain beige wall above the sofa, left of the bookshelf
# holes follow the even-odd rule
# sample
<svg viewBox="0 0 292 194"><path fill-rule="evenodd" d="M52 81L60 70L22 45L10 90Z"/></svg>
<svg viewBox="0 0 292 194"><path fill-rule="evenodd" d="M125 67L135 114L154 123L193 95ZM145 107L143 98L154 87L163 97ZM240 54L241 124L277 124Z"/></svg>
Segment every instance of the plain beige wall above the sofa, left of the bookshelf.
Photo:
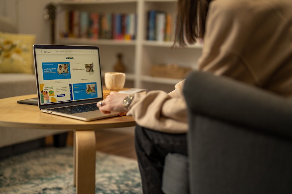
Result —
<svg viewBox="0 0 292 194"><path fill-rule="evenodd" d="M36 44L50 44L50 21L44 9L52 0L0 0L0 16L9 17L19 33L36 34Z"/></svg>

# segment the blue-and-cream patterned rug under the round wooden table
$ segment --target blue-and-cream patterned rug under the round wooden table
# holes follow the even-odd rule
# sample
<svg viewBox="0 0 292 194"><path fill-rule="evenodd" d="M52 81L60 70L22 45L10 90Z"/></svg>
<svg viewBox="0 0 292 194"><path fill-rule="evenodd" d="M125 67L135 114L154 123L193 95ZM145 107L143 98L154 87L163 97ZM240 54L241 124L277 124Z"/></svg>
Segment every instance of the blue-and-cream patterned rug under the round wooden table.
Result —
<svg viewBox="0 0 292 194"><path fill-rule="evenodd" d="M142 194L137 161L96 152L96 194ZM74 194L72 147L46 147L0 160L1 194Z"/></svg>

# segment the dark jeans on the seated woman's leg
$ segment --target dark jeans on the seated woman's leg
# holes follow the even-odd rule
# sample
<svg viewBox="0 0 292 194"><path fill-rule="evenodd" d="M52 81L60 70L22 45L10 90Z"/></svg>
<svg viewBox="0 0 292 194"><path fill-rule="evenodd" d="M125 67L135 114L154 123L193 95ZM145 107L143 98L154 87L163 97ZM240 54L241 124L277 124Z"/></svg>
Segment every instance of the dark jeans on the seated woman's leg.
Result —
<svg viewBox="0 0 292 194"><path fill-rule="evenodd" d="M168 153L187 156L186 134L168 134L136 126L135 149L144 194L161 194L164 158Z"/></svg>

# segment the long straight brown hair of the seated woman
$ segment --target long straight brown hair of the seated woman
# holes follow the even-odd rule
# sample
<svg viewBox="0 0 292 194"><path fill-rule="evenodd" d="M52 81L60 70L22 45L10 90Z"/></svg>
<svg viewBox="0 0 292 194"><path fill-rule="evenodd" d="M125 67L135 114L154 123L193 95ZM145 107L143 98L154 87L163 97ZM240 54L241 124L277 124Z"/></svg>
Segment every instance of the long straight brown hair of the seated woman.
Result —
<svg viewBox="0 0 292 194"><path fill-rule="evenodd" d="M212 0L178 0L175 40L179 46L193 44L203 38L209 3Z"/></svg>

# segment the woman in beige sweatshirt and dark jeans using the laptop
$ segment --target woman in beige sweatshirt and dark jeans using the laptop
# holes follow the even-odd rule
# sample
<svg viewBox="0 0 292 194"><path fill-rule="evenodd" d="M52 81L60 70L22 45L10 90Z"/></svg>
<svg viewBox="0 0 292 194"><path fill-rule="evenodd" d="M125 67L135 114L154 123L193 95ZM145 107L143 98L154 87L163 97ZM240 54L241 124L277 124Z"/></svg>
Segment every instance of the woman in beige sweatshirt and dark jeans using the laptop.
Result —
<svg viewBox="0 0 292 194"><path fill-rule="evenodd" d="M178 0L176 35L183 46L203 38L199 70L292 99L291 10L291 0ZM187 155L183 83L169 94L150 91L130 100L112 92L97 104L104 113L126 112L135 118L143 193L163 193L161 175L167 153Z"/></svg>

